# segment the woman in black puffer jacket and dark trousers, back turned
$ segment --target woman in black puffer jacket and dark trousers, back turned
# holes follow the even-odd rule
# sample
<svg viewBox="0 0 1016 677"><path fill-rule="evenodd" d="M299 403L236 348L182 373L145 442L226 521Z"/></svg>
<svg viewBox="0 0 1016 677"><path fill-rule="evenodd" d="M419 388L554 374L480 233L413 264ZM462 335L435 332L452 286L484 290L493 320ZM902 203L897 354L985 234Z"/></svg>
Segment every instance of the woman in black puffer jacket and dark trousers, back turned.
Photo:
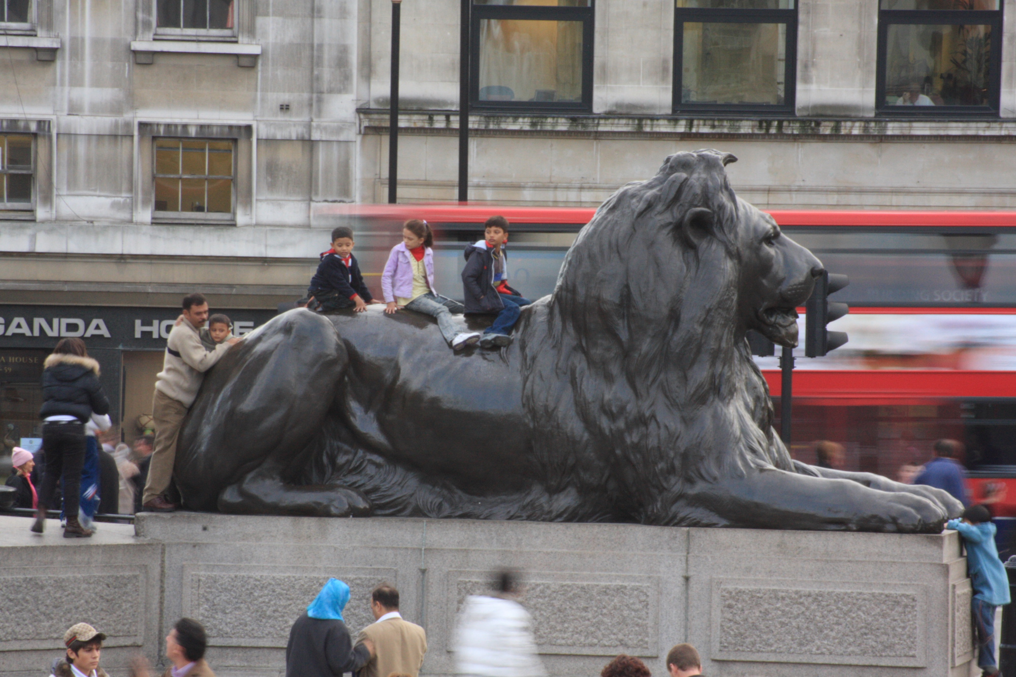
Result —
<svg viewBox="0 0 1016 677"><path fill-rule="evenodd" d="M110 403L99 382L99 363L88 357L80 338L61 338L46 358L43 371L43 449L46 473L39 496L39 511L31 531L46 528L46 507L57 482L63 478L64 538L87 538L91 530L77 520L81 466L84 463L84 424L91 415L108 414Z"/></svg>

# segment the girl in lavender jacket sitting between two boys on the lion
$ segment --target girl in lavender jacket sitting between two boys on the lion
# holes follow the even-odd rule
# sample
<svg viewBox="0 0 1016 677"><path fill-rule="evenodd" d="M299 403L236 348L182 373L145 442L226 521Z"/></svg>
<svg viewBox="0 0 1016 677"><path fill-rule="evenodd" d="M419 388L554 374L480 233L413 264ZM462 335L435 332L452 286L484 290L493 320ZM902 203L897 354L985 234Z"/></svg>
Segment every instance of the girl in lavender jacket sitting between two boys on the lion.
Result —
<svg viewBox="0 0 1016 677"><path fill-rule="evenodd" d="M438 328L452 350L460 351L480 342L479 332L457 332L452 313L461 314L462 304L434 291L434 235L421 219L410 219L402 226L402 241L391 248L381 291L388 304L386 313L399 308L436 317Z"/></svg>

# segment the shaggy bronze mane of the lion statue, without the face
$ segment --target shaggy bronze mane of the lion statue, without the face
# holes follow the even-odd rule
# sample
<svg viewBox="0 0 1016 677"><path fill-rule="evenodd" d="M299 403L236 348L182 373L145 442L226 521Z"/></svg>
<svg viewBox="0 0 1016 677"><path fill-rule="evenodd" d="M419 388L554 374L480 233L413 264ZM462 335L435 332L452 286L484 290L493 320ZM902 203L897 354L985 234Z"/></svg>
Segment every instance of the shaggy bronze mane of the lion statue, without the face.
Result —
<svg viewBox="0 0 1016 677"><path fill-rule="evenodd" d="M621 188L579 234L553 296L525 317L523 406L535 429L555 431L534 440L546 477L615 497L588 519L719 525L674 506L746 464L792 470L736 329L738 289L751 281L739 265L745 207L723 170L734 160L677 153ZM683 227L696 208L714 217L698 242Z"/></svg>

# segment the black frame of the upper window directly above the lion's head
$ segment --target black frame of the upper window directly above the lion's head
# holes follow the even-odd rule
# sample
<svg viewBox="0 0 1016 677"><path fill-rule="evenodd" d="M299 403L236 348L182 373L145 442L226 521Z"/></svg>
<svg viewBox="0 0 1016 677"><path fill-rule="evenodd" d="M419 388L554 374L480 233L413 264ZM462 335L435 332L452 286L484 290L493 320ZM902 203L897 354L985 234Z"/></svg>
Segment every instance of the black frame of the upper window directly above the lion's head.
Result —
<svg viewBox="0 0 1016 677"><path fill-rule="evenodd" d="M672 0L673 2L674 0ZM675 3L677 4L677 3ZM798 6L793 9L704 9L675 7L674 68L672 109L682 113L750 113L757 115L792 116L796 114L798 90ZM685 23L785 23L786 45L783 70L782 104L696 104L681 101L684 78Z"/></svg>

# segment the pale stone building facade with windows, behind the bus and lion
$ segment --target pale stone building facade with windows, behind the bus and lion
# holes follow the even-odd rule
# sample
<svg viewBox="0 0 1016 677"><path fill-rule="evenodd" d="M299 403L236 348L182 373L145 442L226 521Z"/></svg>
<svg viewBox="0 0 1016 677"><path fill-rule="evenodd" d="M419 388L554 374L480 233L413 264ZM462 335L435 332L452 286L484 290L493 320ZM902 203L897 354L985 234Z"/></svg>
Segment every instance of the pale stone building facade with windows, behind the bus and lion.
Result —
<svg viewBox="0 0 1016 677"><path fill-rule="evenodd" d="M472 200L594 205L711 146L763 207L1016 207L1016 0L472 2ZM402 2L400 201L456 195L460 7ZM0 10L2 350L58 338L24 308L273 309L385 200L390 0Z"/></svg>

